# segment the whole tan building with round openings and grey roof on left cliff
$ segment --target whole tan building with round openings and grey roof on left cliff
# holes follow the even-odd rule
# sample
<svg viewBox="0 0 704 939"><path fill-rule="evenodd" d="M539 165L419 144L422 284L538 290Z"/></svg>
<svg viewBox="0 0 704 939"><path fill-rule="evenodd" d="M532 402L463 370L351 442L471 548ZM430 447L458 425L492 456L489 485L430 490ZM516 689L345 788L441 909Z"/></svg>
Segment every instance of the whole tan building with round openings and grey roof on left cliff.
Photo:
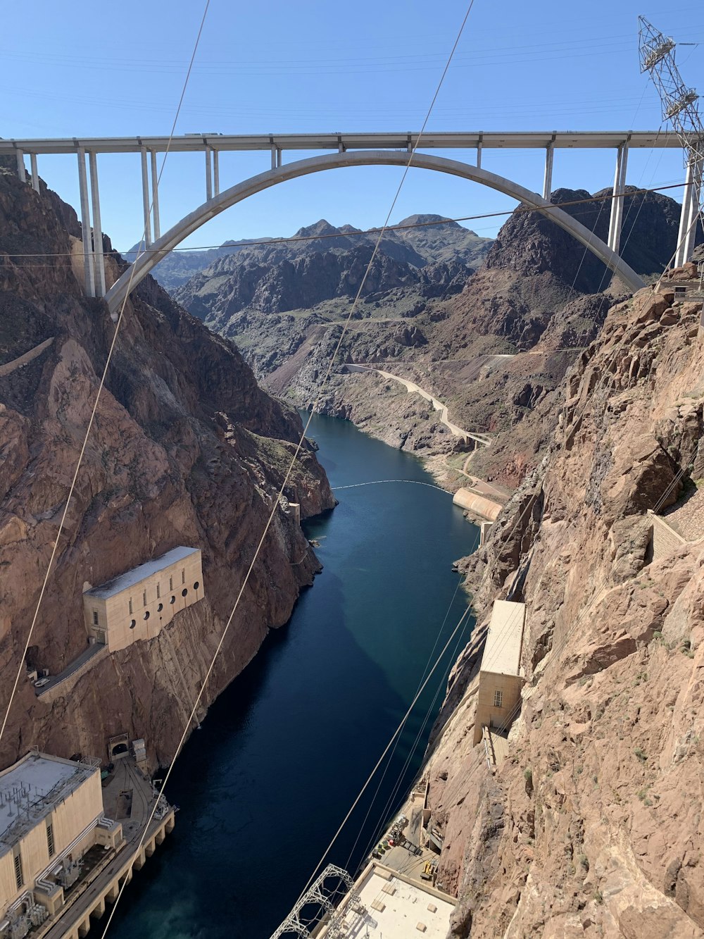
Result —
<svg viewBox="0 0 704 939"><path fill-rule="evenodd" d="M111 652L154 639L179 609L204 597L200 548L175 547L84 592L88 637Z"/></svg>

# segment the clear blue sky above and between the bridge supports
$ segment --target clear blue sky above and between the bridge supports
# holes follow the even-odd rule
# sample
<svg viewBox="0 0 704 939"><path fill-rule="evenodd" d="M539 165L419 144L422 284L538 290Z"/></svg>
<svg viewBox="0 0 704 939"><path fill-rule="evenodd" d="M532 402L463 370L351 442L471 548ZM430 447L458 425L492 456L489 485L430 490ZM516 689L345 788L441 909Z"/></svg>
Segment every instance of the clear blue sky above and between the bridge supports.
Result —
<svg viewBox="0 0 704 939"><path fill-rule="evenodd" d="M0 134L165 134L176 113L201 0L120 5L76 0L3 12ZM176 132L417 131L467 8L466 0L211 0ZM704 93L704 9L653 0L475 0L428 128L436 131L657 130L660 103L637 60L639 13L682 47L688 85ZM292 160L307 154L284 154ZM445 155L474 162L474 152ZM204 158L173 154L161 180L161 231L205 200ZM612 183L613 153L557 151L554 188ZM224 154L221 187L268 169L268 153ZM482 166L540 191L543 154L485 151ZM78 205L74 157L39 158L39 173ZM383 222L395 167L298 179L229 209L187 244L290 235L320 218ZM632 151L628 182L683 175L679 152ZM137 155L100 156L103 230L125 250L141 236ZM467 181L411 171L392 222L414 212L465 216L513 201ZM500 222L468 223L493 236Z"/></svg>

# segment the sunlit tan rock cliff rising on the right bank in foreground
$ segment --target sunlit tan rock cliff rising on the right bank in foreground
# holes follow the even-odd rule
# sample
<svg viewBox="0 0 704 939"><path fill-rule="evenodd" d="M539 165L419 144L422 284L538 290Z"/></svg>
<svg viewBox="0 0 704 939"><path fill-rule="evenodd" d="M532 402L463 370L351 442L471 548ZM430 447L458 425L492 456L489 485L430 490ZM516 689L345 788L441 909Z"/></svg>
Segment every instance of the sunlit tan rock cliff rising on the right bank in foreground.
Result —
<svg viewBox="0 0 704 939"><path fill-rule="evenodd" d="M699 505L701 305L672 301L609 311L542 465L465 565L480 627L427 768L451 936L704 935L704 541L653 539L646 512ZM527 684L492 776L472 747L477 673L518 568Z"/></svg>

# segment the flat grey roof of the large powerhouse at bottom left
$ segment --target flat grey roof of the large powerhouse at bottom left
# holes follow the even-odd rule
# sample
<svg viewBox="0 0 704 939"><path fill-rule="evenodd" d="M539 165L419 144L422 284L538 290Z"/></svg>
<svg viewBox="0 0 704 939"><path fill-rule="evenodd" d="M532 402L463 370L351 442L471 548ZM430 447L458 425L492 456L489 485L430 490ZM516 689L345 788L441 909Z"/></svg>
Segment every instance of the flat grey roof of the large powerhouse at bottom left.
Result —
<svg viewBox="0 0 704 939"><path fill-rule="evenodd" d="M0 854L96 771L86 763L37 752L8 766L0 773Z"/></svg>

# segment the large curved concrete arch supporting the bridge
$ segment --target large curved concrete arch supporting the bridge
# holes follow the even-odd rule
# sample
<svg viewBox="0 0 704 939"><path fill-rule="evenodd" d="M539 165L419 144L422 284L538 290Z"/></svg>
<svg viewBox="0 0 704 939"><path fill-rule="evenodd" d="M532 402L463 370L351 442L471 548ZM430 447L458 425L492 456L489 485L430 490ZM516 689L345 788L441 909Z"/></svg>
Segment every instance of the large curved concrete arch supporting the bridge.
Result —
<svg viewBox="0 0 704 939"><path fill-rule="evenodd" d="M310 157L306 160L286 163L284 166L278 166L275 169L268 170L266 173L260 173L258 176L245 179L243 182L231 186L230 189L220 192L218 195L204 202L202 206L193 209L180 222L177 222L173 228L170 228L160 239L150 245L149 251L137 258L130 267L115 281L115 284L105 294L105 300L108 304L110 314L116 319L117 313L123 300L130 294L149 271L154 268L166 254L173 251L183 239L188 238L201 225L208 222L214 216L219 215L226 208L230 208L249 198L257 192L269 189L279 183L287 182L289 179L309 176L312 173L320 173L323 170L341 169L346 166L406 166L409 154L398 150L352 150L343 153L329 153L318 157ZM448 160L446 157L436 157L428 153L416 152L413 156L412 166L414 169L435 170L438 173L448 173L451 176L469 179L472 182L482 183L497 192L503 192L510 195L519 202L524 202L541 212L545 218L558 224L560 228L569 232L577 241L580 241L593 254L596 254L600 260L604 261L607 268L614 271L620 277L624 284L632 290L639 290L644 286L643 280L635 270L630 268L621 260L616 252L612 251L602 239L597 238L589 228L580 222L577 222L571 215L568 215L561 208L556 208L543 196L537 192L530 192L511 179L497 176L496 173L489 173L479 166L471 166L468 163L456 160Z"/></svg>

